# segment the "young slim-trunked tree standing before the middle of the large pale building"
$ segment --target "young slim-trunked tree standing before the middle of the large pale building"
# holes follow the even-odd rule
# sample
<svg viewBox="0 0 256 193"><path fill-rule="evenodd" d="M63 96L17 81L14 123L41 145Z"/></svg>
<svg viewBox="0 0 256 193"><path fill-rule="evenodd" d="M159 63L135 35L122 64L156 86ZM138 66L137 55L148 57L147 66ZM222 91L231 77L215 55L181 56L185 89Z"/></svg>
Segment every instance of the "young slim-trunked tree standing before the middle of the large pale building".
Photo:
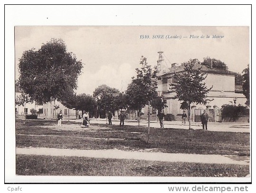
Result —
<svg viewBox="0 0 256 193"><path fill-rule="evenodd" d="M193 68L193 64L190 62L185 62L182 65L185 67L184 72L182 72L182 75L174 73L171 92L175 92L175 98L183 101L181 108L188 109L189 129L191 129L190 105L191 103L206 105L209 101L209 99L206 99L207 93L212 87L207 88L205 86L203 80L206 79L206 74L200 72L201 68Z"/></svg>

